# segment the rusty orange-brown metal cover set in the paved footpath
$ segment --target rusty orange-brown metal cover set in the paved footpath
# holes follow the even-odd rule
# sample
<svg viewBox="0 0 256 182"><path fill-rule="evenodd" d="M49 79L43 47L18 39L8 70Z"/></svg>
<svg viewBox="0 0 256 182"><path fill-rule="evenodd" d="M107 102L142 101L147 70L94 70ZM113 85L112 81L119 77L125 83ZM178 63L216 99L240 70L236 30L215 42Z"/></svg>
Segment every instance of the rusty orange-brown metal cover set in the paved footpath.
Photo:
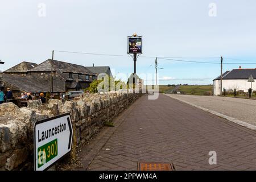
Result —
<svg viewBox="0 0 256 182"><path fill-rule="evenodd" d="M174 171L171 163L138 162L138 171Z"/></svg>

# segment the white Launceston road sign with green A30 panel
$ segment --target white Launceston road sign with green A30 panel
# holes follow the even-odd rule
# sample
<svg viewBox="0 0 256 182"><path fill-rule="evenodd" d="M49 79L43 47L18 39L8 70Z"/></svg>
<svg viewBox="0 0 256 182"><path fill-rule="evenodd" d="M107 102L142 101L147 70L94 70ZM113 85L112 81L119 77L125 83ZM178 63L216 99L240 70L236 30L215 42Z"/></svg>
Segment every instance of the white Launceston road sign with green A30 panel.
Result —
<svg viewBox="0 0 256 182"><path fill-rule="evenodd" d="M73 127L70 114L44 119L34 125L34 169L51 167L72 148Z"/></svg>

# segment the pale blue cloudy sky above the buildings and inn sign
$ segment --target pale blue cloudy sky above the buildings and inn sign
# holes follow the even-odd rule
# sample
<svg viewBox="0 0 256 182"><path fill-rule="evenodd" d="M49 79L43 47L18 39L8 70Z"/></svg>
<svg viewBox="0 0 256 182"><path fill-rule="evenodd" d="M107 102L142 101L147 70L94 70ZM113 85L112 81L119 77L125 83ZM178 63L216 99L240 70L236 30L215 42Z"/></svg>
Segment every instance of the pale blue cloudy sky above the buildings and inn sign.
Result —
<svg viewBox="0 0 256 182"><path fill-rule="evenodd" d="M42 63L52 50L127 56L127 36L134 32L143 36L138 74L154 74L156 56L213 63L223 56L224 63L237 63L224 64L224 72L256 68L244 64L256 63L255 8L255 0L0 0L0 69ZM122 80L133 72L131 56L55 52L54 59L108 65ZM220 75L220 64L158 59L158 68L161 85L212 84Z"/></svg>

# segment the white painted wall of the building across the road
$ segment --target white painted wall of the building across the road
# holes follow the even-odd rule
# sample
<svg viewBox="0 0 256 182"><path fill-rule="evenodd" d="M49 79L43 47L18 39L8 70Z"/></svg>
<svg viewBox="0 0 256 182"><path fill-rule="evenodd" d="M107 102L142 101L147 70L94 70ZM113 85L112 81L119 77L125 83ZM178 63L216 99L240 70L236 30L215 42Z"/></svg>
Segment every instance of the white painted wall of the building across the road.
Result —
<svg viewBox="0 0 256 182"><path fill-rule="evenodd" d="M213 81L213 94L214 96L220 95L220 80ZM248 89L251 88L251 82L247 82L247 80L222 80L222 89L236 89L243 90L243 92L248 92ZM253 90L256 90L256 82L253 82Z"/></svg>

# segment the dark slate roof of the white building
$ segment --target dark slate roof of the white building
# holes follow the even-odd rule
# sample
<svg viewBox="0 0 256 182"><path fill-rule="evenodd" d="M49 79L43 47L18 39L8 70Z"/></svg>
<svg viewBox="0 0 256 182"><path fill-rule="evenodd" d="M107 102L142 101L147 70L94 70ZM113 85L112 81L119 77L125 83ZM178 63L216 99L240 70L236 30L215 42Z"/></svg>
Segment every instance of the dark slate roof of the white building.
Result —
<svg viewBox="0 0 256 182"><path fill-rule="evenodd" d="M233 69L232 71L227 71L223 74L222 80L248 80L250 75L256 78L256 68L255 69ZM220 80L220 76L214 80ZM213 81L214 81L213 80Z"/></svg>

